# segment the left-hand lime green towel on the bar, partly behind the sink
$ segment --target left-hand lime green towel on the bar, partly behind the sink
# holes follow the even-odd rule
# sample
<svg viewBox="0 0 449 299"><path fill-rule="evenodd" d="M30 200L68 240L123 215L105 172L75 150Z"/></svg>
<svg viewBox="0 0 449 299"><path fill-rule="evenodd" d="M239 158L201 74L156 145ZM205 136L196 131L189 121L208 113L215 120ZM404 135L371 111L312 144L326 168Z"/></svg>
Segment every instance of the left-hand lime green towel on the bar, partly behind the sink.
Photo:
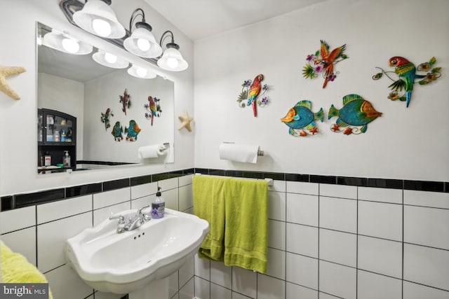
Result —
<svg viewBox="0 0 449 299"><path fill-rule="evenodd" d="M209 232L198 251L200 258L223 260L225 237L225 181L219 176L194 176L194 214L209 223Z"/></svg>

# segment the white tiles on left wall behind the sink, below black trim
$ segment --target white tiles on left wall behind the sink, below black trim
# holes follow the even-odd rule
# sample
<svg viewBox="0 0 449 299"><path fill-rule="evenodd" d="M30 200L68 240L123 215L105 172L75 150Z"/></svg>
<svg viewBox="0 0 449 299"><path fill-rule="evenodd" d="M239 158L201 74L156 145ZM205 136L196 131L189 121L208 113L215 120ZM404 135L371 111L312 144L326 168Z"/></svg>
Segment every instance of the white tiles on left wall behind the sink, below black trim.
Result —
<svg viewBox="0 0 449 299"><path fill-rule="evenodd" d="M162 188L166 207L192 213L192 175L178 176L134 186L128 183L126 187L111 187L113 190L100 193L3 211L0 213L0 239L37 265L50 283L53 298L119 299L121 295L101 293L86 285L66 264L63 244L65 239L97 225L110 214L151 204L157 186ZM132 254L133 249L129 250ZM192 259L170 276L170 298L193 297Z"/></svg>

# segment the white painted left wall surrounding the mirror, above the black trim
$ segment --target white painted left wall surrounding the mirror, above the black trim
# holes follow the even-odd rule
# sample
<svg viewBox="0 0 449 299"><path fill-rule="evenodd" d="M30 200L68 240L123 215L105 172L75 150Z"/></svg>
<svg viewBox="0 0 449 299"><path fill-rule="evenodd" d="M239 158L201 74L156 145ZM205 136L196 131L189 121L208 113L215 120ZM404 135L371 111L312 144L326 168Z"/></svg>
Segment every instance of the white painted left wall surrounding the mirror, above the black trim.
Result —
<svg viewBox="0 0 449 299"><path fill-rule="evenodd" d="M58 1L0 0L0 64L21 66L27 71L19 76L7 79L9 85L21 96L15 101L0 93L0 126L15 126L17 133L4 135L0 142L0 195L28 192L61 186L73 186L93 181L104 181L129 177L131 174L151 174L171 169L185 169L193 166L194 135L186 130L175 132L175 163L169 165L147 165L135 168L95 170L73 174L36 174L37 137L36 137L36 21L50 27L67 31L98 48L111 50L126 57L130 62L140 62L152 67L152 64L128 54L124 50L114 49L106 41L86 34L83 30L69 24L60 11ZM175 41L180 45L182 55L193 65L193 43L179 32L159 13L156 13L144 1L113 1L119 21L128 26L129 18L135 8L143 8L147 21L153 27L153 33L159 38L163 31L171 29ZM13 29L13 30L12 30ZM162 74L159 69L155 70ZM187 109L193 115L193 71L192 67L179 74L166 74L175 83L175 116ZM175 119L177 120L177 118ZM177 126L177 123L175 124ZM18 127L18 128L17 128ZM10 135L8 137L7 135ZM182 149L182 151L181 151ZM24 184L23 182L27 183Z"/></svg>

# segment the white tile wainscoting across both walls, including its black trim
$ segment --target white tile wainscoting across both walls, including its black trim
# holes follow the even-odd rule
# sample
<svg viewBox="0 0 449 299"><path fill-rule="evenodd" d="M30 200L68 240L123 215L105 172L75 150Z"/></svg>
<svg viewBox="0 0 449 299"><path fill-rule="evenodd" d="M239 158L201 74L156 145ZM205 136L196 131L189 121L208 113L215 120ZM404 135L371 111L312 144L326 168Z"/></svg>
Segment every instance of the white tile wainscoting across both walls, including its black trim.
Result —
<svg viewBox="0 0 449 299"><path fill-rule="evenodd" d="M119 299L79 279L65 239L150 203L158 185L166 207L192 213L193 172L274 179L268 272L194 258L170 277L170 298L449 299L448 182L186 169L1 197L0 238L46 274L55 299Z"/></svg>

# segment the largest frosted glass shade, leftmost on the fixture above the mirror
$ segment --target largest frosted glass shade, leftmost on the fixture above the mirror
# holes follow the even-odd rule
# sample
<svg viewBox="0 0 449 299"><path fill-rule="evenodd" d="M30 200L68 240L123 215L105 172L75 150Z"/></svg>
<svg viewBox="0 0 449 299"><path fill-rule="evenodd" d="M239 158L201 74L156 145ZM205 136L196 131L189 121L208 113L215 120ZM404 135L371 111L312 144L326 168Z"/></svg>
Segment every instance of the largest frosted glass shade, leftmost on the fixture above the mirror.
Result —
<svg viewBox="0 0 449 299"><path fill-rule="evenodd" d="M112 8L101 0L89 0L81 11L73 14L73 20L82 29L108 39L120 39L126 35Z"/></svg>

